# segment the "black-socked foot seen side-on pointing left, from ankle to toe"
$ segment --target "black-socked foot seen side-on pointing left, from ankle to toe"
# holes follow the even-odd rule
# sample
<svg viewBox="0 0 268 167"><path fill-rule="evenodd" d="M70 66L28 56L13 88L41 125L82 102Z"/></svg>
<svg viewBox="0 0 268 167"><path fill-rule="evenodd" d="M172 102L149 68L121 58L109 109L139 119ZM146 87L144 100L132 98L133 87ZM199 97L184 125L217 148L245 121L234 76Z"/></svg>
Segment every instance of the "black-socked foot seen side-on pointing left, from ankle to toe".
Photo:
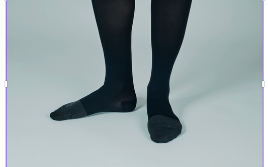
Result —
<svg viewBox="0 0 268 167"><path fill-rule="evenodd" d="M116 89L102 86L95 92L65 104L52 112L50 117L54 120L81 118L98 112L130 112L136 107L136 94L134 87Z"/></svg>

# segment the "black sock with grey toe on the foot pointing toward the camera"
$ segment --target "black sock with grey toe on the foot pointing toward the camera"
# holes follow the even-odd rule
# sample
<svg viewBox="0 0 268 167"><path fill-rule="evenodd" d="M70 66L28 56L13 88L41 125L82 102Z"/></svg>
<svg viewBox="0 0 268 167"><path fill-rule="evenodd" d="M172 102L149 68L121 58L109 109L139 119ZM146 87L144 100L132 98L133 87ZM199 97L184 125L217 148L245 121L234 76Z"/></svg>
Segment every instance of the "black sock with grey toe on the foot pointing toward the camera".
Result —
<svg viewBox="0 0 268 167"><path fill-rule="evenodd" d="M155 142L168 142L182 130L169 104L169 78L184 39L191 3L192 0L151 1L152 72L147 87L147 114L148 130Z"/></svg>

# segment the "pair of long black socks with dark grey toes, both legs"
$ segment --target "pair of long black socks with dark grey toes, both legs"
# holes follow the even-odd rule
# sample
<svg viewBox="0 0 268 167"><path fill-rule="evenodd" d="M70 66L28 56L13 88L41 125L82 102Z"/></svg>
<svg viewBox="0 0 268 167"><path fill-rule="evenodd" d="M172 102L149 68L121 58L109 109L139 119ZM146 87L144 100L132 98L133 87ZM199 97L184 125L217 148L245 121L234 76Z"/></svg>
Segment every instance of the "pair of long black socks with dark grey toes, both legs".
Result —
<svg viewBox="0 0 268 167"><path fill-rule="evenodd" d="M152 71L147 87L148 131L154 142L177 137L182 124L169 104L169 78L181 48L192 0L151 0ZM105 57L104 85L50 114L75 119L103 111L130 112L136 107L132 78L131 30L134 0L92 0Z"/></svg>

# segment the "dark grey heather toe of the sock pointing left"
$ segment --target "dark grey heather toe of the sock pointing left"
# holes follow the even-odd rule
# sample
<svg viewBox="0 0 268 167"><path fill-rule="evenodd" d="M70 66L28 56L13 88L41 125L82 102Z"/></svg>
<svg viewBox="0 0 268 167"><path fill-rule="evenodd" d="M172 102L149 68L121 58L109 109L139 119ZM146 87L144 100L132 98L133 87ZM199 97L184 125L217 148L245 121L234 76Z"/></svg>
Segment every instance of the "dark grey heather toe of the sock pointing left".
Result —
<svg viewBox="0 0 268 167"><path fill-rule="evenodd" d="M87 114L79 100L65 104L50 113L50 117L54 120L75 119L85 116L87 116Z"/></svg>

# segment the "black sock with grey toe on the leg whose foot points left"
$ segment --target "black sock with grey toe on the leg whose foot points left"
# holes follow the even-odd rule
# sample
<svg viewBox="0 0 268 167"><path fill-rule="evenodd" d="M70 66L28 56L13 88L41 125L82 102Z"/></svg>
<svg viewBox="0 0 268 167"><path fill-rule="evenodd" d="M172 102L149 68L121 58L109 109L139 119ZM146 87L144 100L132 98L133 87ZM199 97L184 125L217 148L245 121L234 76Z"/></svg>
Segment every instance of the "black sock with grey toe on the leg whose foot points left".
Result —
<svg viewBox="0 0 268 167"><path fill-rule="evenodd" d="M92 0L105 57L104 85L50 114L54 120L84 117L97 112L129 112L135 109L131 66L131 30L134 0ZM83 73L87 73L86 71Z"/></svg>

